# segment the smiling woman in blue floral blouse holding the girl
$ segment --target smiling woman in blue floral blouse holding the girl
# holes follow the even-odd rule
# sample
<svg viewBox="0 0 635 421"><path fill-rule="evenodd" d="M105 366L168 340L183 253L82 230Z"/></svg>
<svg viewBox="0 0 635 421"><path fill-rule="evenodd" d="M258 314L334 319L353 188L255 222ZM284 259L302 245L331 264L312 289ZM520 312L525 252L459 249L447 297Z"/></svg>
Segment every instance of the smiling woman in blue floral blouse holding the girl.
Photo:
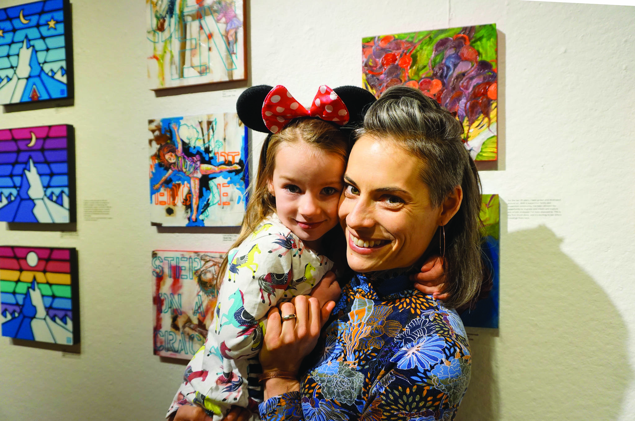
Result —
<svg viewBox="0 0 635 421"><path fill-rule="evenodd" d="M330 306L297 297L269 313L260 353L263 420L455 416L471 359L460 318L448 308L469 301L482 278L479 179L461 134L449 112L409 87L388 89L370 107L339 210L357 274L317 347ZM443 303L409 278L437 252L450 294ZM182 415L176 419L197 419Z"/></svg>

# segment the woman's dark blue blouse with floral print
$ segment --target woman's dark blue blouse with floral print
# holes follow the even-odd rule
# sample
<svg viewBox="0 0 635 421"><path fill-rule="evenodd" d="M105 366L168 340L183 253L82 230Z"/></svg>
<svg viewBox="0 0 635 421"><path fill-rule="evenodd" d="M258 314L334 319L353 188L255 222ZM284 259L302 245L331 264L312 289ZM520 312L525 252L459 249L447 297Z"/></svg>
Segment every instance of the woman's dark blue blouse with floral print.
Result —
<svg viewBox="0 0 635 421"><path fill-rule="evenodd" d="M342 291L300 391L260 404L262 420L452 420L470 379L463 323L401 275L358 274Z"/></svg>

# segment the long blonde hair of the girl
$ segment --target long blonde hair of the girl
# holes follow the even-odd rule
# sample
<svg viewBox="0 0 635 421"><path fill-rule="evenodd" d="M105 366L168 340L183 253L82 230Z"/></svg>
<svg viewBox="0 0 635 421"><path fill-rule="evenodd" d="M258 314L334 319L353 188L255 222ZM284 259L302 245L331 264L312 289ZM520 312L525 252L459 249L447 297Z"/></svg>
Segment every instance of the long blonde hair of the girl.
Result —
<svg viewBox="0 0 635 421"><path fill-rule="evenodd" d="M276 198L269 193L269 181L273 178L276 167L276 153L281 145L292 145L299 141L303 141L321 152L339 155L344 159L344 162L348 159L350 151L349 136L324 120L312 118L296 119L278 133L270 134L265 139L260 151L258 176L255 186L250 189L250 198L245 210L243 226L230 250L243 243L253 231L257 230L258 225L265 218L276 212ZM311 163L307 162L307 165L311 165ZM335 228L337 229L338 227ZM228 263L227 254L225 254L218 270L217 288L220 288Z"/></svg>

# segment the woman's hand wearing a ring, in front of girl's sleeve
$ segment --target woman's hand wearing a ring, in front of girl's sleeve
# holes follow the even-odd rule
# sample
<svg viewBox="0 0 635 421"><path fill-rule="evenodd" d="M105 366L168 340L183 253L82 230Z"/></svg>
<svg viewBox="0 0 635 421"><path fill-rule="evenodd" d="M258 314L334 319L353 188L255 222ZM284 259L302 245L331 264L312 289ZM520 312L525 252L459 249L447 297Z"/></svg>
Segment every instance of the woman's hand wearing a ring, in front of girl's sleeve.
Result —
<svg viewBox="0 0 635 421"><path fill-rule="evenodd" d="M260 351L262 372L297 373L300 363L318 343L322 325L335 307L334 301L320 308L318 299L298 295L295 305L283 302L280 309L269 310L264 346ZM288 314L295 318L282 320Z"/></svg>

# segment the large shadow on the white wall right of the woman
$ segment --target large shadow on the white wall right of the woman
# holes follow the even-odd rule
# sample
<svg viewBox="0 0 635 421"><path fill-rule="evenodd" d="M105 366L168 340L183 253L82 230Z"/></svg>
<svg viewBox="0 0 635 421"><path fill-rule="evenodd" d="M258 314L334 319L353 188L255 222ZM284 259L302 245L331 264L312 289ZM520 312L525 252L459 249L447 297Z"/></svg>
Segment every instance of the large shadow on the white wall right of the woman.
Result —
<svg viewBox="0 0 635 421"><path fill-rule="evenodd" d="M468 328L456 421L616 419L632 379L620 314L551 230L505 231L500 330Z"/></svg>

